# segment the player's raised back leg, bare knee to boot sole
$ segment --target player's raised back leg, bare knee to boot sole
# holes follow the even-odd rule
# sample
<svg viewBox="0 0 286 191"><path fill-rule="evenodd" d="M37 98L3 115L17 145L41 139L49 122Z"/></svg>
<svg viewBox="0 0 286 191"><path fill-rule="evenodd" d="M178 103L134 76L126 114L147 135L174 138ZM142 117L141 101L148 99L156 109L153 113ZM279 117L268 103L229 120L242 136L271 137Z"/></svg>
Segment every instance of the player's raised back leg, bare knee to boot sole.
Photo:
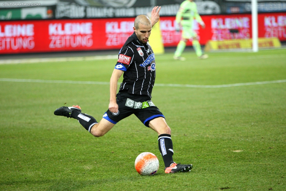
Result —
<svg viewBox="0 0 286 191"><path fill-rule="evenodd" d="M60 107L54 111L54 114L77 119L84 129L95 137L103 136L115 125L104 118L98 123L93 116L81 113L81 108L78 105Z"/></svg>

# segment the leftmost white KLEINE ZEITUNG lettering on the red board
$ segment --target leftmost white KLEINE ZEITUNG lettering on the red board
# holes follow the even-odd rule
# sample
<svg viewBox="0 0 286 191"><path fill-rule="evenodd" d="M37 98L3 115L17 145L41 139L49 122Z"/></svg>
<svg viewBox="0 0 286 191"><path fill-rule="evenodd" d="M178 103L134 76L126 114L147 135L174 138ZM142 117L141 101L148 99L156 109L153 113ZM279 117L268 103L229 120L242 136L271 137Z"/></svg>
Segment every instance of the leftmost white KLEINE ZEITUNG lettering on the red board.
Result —
<svg viewBox="0 0 286 191"><path fill-rule="evenodd" d="M0 50L33 49L34 24L0 25Z"/></svg>

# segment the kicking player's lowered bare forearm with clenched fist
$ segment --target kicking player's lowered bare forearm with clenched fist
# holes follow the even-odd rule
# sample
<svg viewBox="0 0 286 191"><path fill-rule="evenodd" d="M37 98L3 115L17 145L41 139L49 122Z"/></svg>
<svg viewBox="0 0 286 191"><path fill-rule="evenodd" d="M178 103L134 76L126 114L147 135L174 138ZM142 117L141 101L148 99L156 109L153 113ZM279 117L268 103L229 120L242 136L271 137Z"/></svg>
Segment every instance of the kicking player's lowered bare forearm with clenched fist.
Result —
<svg viewBox="0 0 286 191"><path fill-rule="evenodd" d="M118 111L118 104L116 103L117 83L124 71L114 69L110 78L110 99L108 109L116 113Z"/></svg>

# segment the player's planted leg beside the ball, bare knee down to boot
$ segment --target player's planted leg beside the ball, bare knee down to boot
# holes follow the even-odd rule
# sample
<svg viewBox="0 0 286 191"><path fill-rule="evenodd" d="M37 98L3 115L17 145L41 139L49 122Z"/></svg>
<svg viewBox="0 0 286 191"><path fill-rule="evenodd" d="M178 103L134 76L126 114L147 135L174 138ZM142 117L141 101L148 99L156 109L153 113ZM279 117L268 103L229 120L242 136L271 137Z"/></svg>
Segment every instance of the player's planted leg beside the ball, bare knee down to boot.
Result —
<svg viewBox="0 0 286 191"><path fill-rule="evenodd" d="M181 165L173 161L173 142L171 139L171 129L163 117L158 117L149 122L149 127L159 135L159 150L165 164L165 173L189 172L193 165Z"/></svg>

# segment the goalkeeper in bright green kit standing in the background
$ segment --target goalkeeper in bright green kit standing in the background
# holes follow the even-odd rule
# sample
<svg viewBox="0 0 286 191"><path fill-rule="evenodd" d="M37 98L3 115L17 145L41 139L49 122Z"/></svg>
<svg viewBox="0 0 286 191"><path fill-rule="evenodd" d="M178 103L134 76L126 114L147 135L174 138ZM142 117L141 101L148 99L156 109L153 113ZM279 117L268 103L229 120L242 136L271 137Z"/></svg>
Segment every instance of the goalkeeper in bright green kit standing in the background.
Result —
<svg viewBox="0 0 286 191"><path fill-rule="evenodd" d="M180 9L176 15L176 31L180 31L180 24L183 28L182 31L182 39L178 43L174 59L175 60L185 60L185 58L181 57L182 52L186 47L186 43L189 39L192 39L193 48L200 59L208 58L208 55L202 54L201 45L197 39L197 33L193 30L193 20L194 18L197 22L205 28L205 23L202 21L202 18L198 14L197 5L193 0L185 0L180 5Z"/></svg>

